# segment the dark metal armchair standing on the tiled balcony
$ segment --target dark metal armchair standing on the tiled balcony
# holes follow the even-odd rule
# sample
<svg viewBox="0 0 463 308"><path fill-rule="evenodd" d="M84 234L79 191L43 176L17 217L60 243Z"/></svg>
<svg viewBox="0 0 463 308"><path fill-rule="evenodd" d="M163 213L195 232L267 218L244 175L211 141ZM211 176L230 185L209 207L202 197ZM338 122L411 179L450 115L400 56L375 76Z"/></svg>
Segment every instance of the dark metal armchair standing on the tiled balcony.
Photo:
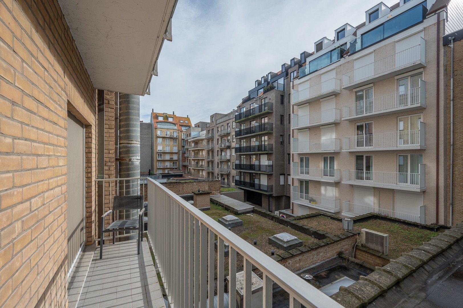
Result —
<svg viewBox="0 0 463 308"><path fill-rule="evenodd" d="M129 220L115 220L116 211L137 210L138 217ZM105 217L113 214L113 222L105 229ZM101 216L100 259L103 258L104 233L113 233L113 244L116 242L116 232L138 230L137 250L140 254L140 242L143 241L144 232L144 206L143 196L114 196L113 209Z"/></svg>

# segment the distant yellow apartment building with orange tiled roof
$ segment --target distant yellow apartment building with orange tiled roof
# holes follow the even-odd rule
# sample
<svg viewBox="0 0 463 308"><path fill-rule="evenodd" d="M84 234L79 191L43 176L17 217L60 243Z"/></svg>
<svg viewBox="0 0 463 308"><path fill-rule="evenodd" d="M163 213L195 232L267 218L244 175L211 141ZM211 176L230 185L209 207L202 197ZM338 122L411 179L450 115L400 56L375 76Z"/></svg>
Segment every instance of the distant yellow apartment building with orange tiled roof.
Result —
<svg viewBox="0 0 463 308"><path fill-rule="evenodd" d="M185 136L191 121L187 117L179 117L175 113L151 113L153 126L153 167L156 173L184 170Z"/></svg>

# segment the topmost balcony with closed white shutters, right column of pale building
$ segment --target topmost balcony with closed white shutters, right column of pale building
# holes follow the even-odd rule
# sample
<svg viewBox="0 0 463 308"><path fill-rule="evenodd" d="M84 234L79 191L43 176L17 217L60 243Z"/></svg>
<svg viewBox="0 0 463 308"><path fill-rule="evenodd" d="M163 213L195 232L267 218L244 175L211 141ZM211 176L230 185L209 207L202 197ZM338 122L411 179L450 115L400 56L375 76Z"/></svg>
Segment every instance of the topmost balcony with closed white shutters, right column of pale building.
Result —
<svg viewBox="0 0 463 308"><path fill-rule="evenodd" d="M421 44L397 52L354 69L343 75L343 88L351 90L426 66L425 40Z"/></svg>

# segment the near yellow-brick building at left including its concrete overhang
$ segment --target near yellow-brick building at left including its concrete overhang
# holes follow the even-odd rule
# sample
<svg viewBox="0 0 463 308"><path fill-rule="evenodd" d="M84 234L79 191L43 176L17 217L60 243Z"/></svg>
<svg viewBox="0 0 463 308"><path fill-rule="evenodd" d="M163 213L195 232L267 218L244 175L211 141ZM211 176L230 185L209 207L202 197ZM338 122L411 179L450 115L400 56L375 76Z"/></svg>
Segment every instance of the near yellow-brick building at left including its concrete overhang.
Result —
<svg viewBox="0 0 463 308"><path fill-rule="evenodd" d="M2 307L67 307L73 261L98 237L95 179L118 177L115 114L149 91L171 39L175 1L140 5L0 1Z"/></svg>

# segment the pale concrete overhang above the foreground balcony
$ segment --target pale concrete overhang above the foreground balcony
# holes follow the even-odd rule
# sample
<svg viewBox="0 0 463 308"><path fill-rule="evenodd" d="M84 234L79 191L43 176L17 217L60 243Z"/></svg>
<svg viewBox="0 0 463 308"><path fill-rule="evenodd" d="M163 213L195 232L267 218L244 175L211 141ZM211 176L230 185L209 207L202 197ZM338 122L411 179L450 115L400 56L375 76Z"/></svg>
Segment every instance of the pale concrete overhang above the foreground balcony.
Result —
<svg viewBox="0 0 463 308"><path fill-rule="evenodd" d="M176 0L58 2L94 87L144 95Z"/></svg>

